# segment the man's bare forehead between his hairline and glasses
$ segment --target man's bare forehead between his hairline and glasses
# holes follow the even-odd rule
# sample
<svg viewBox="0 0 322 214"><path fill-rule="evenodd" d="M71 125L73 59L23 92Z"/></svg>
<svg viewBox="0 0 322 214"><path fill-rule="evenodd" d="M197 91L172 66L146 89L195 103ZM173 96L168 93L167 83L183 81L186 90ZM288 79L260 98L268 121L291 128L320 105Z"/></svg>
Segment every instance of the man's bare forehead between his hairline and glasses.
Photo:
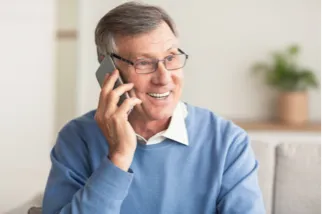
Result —
<svg viewBox="0 0 322 214"><path fill-rule="evenodd" d="M119 54L128 57L140 55L157 56L171 47L178 47L178 39L166 23L155 30L127 37L117 37L116 45Z"/></svg>

